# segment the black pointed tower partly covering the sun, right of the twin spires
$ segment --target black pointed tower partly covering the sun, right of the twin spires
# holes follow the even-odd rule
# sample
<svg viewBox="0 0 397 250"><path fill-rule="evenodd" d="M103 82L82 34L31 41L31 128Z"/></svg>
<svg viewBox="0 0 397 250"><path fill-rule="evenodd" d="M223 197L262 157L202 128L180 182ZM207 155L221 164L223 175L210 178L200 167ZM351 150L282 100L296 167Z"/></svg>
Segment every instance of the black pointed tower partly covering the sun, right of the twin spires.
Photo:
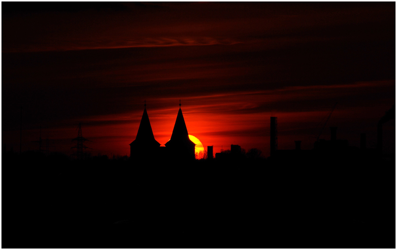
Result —
<svg viewBox="0 0 397 250"><path fill-rule="evenodd" d="M189 139L188 129L186 128L185 119L183 118L181 104L176 116L174 129L172 130L171 139L165 143L167 155L174 159L195 159L196 144Z"/></svg>

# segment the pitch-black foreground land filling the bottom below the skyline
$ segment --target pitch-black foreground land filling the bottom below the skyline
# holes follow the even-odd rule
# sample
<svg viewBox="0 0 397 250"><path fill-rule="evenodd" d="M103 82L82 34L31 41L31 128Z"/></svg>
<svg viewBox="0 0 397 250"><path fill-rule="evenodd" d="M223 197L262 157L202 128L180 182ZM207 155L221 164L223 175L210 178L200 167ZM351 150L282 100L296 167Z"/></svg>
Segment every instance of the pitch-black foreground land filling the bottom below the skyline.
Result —
<svg viewBox="0 0 397 250"><path fill-rule="evenodd" d="M3 152L2 181L4 248L395 248L395 158Z"/></svg>

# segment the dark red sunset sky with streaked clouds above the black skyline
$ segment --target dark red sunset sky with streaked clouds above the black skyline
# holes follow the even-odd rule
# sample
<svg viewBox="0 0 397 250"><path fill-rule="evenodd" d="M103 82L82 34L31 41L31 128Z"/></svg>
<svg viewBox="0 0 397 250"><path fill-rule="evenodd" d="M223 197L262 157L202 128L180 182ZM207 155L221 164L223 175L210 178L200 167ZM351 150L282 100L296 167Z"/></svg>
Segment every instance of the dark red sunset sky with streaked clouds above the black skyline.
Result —
<svg viewBox="0 0 397 250"><path fill-rule="evenodd" d="M321 138L375 147L396 102L395 2L2 2L2 147L129 155L146 100L165 144L181 108L203 146L312 149ZM384 151L395 151L395 121Z"/></svg>

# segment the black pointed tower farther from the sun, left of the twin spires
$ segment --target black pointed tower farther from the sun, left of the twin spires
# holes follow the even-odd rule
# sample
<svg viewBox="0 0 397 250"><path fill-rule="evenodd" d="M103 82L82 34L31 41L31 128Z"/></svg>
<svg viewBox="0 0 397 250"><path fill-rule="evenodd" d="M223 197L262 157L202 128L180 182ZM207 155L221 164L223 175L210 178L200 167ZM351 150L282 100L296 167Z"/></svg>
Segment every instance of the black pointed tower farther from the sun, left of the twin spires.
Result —
<svg viewBox="0 0 397 250"><path fill-rule="evenodd" d="M135 140L130 143L132 158L148 158L160 152L160 143L154 139L152 126L150 126L149 116L145 109L140 120L138 133Z"/></svg>

